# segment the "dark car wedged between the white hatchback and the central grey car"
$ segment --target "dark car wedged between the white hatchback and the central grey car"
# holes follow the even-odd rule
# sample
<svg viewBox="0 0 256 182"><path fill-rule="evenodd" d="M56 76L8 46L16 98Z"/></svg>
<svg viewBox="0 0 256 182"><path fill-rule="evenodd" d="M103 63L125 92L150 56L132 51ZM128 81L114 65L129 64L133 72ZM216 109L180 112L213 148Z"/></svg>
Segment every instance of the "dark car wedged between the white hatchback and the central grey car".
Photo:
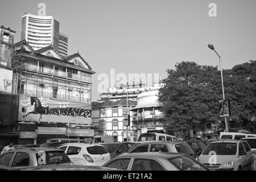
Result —
<svg viewBox="0 0 256 182"><path fill-rule="evenodd" d="M123 152L127 152L134 142L113 142L113 143L102 143L102 146L109 151L110 157L114 158Z"/></svg>

